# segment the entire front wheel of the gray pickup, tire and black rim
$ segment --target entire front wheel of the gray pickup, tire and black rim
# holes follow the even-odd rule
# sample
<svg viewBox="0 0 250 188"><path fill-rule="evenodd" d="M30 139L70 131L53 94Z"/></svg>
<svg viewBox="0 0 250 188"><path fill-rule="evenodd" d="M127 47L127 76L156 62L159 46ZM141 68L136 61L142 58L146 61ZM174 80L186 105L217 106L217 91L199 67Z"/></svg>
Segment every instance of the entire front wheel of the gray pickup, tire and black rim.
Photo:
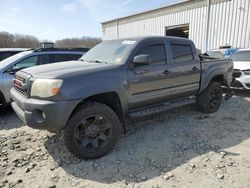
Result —
<svg viewBox="0 0 250 188"><path fill-rule="evenodd" d="M121 135L114 111L102 103L86 103L69 120L64 140L70 152L81 159L99 158L110 152Z"/></svg>

